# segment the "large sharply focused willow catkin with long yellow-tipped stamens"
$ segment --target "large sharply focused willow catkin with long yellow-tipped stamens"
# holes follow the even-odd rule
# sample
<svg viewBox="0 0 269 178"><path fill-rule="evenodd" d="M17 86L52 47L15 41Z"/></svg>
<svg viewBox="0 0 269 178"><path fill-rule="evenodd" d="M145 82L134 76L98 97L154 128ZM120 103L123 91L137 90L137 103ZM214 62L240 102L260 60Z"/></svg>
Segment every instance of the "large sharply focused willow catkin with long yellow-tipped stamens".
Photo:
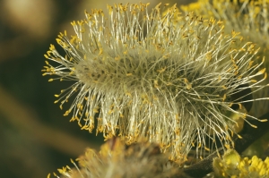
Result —
<svg viewBox="0 0 269 178"><path fill-rule="evenodd" d="M192 147L203 156L216 140L233 146L238 120L247 116L242 103L252 100L232 96L264 88L266 73L258 70L255 45L242 43L235 31L225 34L221 21L182 16L167 5L151 12L148 4L108 5L108 17L85 13L72 22L75 36L56 39L66 55L51 45L45 57L58 65L46 61L42 71L58 76L49 81L74 81L56 103L63 108L73 97L64 115L82 129L91 132L97 122L106 139L118 135L128 143L144 136L183 162ZM253 80L258 75L264 79Z"/></svg>

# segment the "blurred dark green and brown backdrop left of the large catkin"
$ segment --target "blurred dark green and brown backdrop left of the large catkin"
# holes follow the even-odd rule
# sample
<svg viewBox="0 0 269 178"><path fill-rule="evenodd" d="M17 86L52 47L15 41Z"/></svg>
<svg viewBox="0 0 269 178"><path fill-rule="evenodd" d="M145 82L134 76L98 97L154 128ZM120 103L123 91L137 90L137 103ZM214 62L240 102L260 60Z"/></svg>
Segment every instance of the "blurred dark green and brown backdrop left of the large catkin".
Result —
<svg viewBox="0 0 269 178"><path fill-rule="evenodd" d="M160 3L142 1L148 2L151 7ZM54 104L54 95L69 84L48 82L41 69L44 54L50 44L56 45L58 33L73 33L70 21L83 19L84 10L106 10L107 4L114 3L139 1L0 0L1 178L47 177L57 168L72 165L70 158L79 157L85 148L100 147L101 134L96 137L95 132L81 131Z"/></svg>

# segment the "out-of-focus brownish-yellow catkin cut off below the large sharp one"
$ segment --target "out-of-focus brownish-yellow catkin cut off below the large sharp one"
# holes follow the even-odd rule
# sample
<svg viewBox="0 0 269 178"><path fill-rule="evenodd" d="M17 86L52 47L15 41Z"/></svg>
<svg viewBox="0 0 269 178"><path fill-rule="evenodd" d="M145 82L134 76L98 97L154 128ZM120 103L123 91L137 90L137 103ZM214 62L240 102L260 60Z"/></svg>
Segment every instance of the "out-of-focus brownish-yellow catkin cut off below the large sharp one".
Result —
<svg viewBox="0 0 269 178"><path fill-rule="evenodd" d="M62 178L188 177L169 163L158 144L145 140L126 146L123 140L113 138L101 146L100 152L87 148L77 160L79 166L72 161L75 168L58 169Z"/></svg>

